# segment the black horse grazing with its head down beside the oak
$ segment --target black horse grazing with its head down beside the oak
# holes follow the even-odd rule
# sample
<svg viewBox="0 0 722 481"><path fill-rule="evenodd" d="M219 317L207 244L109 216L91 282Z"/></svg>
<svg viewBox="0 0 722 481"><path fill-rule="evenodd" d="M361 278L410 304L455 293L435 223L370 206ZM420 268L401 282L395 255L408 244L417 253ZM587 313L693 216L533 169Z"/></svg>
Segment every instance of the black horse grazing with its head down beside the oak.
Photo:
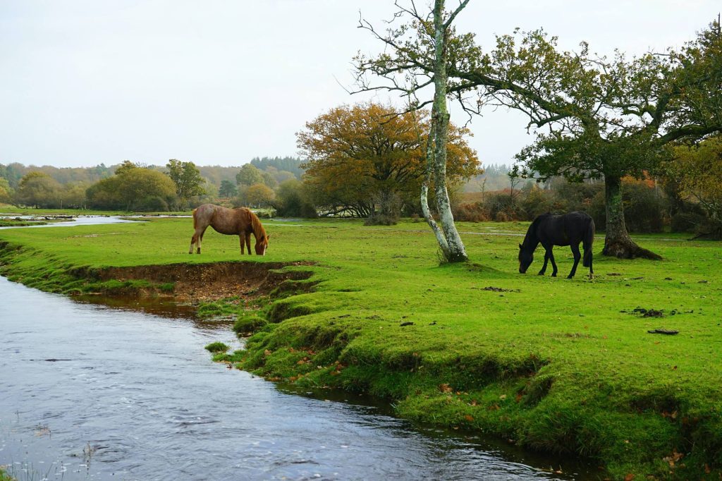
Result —
<svg viewBox="0 0 722 481"><path fill-rule="evenodd" d="M570 246L574 254L574 266L567 279L574 277L577 272L577 265L581 254L579 243L583 243L584 267L589 268L589 277L594 277L591 267L592 251L591 245L594 242L594 220L584 212L570 212L564 215L552 215L547 212L531 222L529 230L526 231L524 242L519 244L519 272L526 273L529 264L534 260L534 249L541 243L546 253L544 254L544 266L541 267L539 275L543 276L547 271L547 261L552 261L552 277L557 277L557 263L554 262L552 248L554 246Z"/></svg>

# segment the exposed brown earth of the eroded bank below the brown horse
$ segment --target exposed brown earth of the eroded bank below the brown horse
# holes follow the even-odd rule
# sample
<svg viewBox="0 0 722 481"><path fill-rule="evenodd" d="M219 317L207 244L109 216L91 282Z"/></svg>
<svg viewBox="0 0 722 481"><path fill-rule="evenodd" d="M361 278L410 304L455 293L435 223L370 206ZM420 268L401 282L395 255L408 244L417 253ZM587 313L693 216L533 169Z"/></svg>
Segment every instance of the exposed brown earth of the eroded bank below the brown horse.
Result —
<svg viewBox="0 0 722 481"><path fill-rule="evenodd" d="M281 271L289 266L310 266L310 262L217 262L214 264L168 264L160 266L107 267L89 277L99 281L147 280L157 285L173 283L177 300L217 300L240 296L256 298L271 293L285 281L305 280L310 271ZM150 289L142 294L158 294ZM162 294L162 292L161 292Z"/></svg>

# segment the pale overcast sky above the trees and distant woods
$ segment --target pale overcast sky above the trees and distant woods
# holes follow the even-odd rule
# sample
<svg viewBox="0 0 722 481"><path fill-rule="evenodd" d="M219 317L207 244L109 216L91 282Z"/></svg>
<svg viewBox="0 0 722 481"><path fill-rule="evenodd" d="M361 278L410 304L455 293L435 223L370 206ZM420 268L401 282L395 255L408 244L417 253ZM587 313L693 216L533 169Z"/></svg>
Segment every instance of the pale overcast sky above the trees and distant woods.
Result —
<svg viewBox="0 0 722 481"><path fill-rule="evenodd" d="M721 8L471 0L457 25L486 47L514 27L544 27L565 48L587 40L592 51L635 54L691 40ZM0 163L240 165L297 155L305 122L369 98L339 85L352 88L357 51L382 48L357 29L359 12L383 27L394 11L393 0L0 0ZM531 142L524 124L486 113L471 123L471 146L485 164L510 163Z"/></svg>

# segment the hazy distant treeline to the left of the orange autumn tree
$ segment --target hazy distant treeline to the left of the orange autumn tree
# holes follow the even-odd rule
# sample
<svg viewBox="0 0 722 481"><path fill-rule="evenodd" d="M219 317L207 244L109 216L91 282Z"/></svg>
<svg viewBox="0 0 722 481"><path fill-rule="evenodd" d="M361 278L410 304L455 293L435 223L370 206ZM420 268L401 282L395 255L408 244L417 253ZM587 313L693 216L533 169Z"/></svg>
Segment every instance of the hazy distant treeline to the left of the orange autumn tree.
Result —
<svg viewBox="0 0 722 481"><path fill-rule="evenodd" d="M170 159L165 165L57 168L0 164L0 203L45 209L184 210L205 202L269 207L277 191L296 195L303 175L296 157L256 157L238 167Z"/></svg>

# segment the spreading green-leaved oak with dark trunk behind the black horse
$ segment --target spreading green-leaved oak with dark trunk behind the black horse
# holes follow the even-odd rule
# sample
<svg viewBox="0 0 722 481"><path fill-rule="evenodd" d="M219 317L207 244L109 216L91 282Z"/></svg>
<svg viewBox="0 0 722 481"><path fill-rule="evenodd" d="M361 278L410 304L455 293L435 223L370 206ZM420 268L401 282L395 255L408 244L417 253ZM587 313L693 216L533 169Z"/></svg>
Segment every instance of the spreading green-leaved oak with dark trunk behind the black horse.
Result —
<svg viewBox="0 0 722 481"><path fill-rule="evenodd" d="M430 19L411 5L402 12L412 21L386 34L362 23L393 54L359 56L357 71L362 80L371 72L385 80L383 88L415 99L438 80L431 54L438 42L430 40ZM562 51L543 30L498 36L495 48L485 53L474 35L448 30L447 92L468 113L487 105L525 113L528 127L539 130L534 145L518 156L526 168L521 173L573 180L603 177L604 253L658 258L627 234L620 179L658 165L669 142L702 139L722 129L719 31L713 22L682 48L627 59L622 53L597 56L586 43L579 51Z"/></svg>

